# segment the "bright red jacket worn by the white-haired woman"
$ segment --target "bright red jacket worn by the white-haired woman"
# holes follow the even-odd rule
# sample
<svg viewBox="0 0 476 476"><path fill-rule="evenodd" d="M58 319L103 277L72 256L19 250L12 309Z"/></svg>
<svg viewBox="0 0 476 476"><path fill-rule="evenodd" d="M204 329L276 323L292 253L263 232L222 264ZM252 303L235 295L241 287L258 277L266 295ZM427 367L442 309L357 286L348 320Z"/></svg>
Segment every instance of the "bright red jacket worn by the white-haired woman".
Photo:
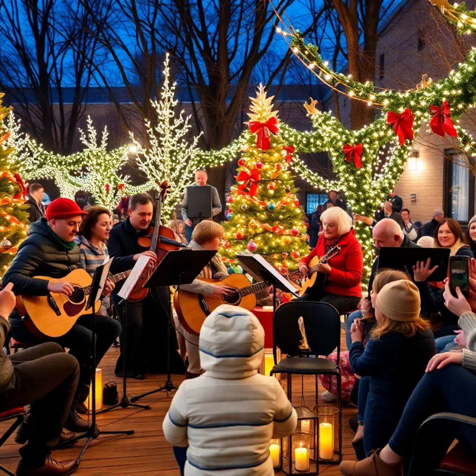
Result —
<svg viewBox="0 0 476 476"><path fill-rule="evenodd" d="M299 264L308 266L311 259L315 256L324 256L326 254L324 240L324 236L321 236L317 240L316 248L302 258ZM327 261L327 264L331 267L331 272L327 275L324 290L340 296L361 297L362 288L360 287L360 281L362 280L362 271L364 269L364 258L355 230L352 228L343 235L337 245L341 247L340 252Z"/></svg>

